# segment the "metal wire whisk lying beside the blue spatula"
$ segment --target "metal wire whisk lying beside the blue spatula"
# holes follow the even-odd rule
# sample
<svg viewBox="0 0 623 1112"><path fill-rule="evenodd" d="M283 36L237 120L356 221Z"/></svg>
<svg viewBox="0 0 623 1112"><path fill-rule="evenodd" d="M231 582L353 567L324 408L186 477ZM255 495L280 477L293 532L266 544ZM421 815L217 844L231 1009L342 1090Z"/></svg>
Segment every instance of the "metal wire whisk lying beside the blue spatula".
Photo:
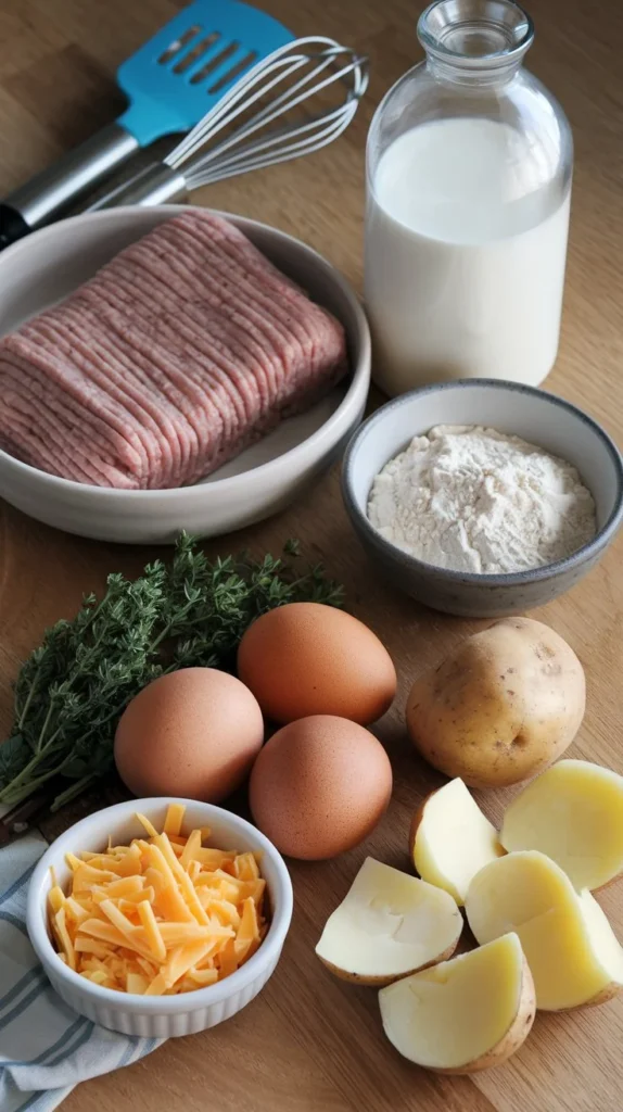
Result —
<svg viewBox="0 0 623 1112"><path fill-rule="evenodd" d="M199 186L310 155L348 128L366 87L368 58L332 39L297 39L258 62L163 161L149 166L87 211L180 200ZM270 128L329 89L336 102ZM259 101L263 107L248 116ZM213 143L243 115L243 122Z"/></svg>

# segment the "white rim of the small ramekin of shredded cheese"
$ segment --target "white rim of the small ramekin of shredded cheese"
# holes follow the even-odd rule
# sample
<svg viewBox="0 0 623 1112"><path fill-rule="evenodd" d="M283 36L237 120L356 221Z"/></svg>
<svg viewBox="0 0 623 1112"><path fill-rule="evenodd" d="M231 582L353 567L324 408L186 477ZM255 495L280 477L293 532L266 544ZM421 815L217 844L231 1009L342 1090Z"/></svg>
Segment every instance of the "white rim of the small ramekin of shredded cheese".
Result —
<svg viewBox="0 0 623 1112"><path fill-rule="evenodd" d="M249 961L234 973L230 973L230 975L224 977L222 981L217 981L215 984L207 985L203 989L195 989L191 992L183 992L177 996L143 996L138 993L118 992L114 989L104 989L102 985L93 984L92 981L88 981L87 977L81 976L80 973L77 973L74 970L70 970L64 962L60 960L48 934L46 922L47 902L43 903L42 901L42 885L48 876L50 866L53 865L59 857L64 857L64 853L69 850L69 844L74 843L76 835L79 834L82 828L88 830L89 827L97 825L98 830L102 830L103 837L105 833L104 827L111 827L115 820L128 818L130 815L134 815L137 811L147 813L149 816L149 811L152 807L158 806L162 808L169 803L181 803L187 807L192 806L205 808L207 823L210 823L210 821L219 821L223 822L225 825L231 825L232 837L235 837L237 831L244 831L249 840L257 844L258 850L262 851L268 857L270 857L271 864L277 871L277 882L273 882L272 888L274 890L277 887L279 892L279 907L274 911L274 900L272 900L273 916L271 919L269 930L252 957L250 957ZM67 831L63 831L62 834L54 838L37 862L30 878L27 897L26 922L32 949L43 965L46 972L48 972L49 965L53 965L54 974L67 981L68 985L70 985L73 990L79 990L83 994L92 995L94 1001L100 1004L110 1004L117 1010L122 1009L132 1013L141 1014L153 1012L157 1012L158 1014L175 1014L180 1012L194 1012L198 1009L221 1003L223 1000L228 1000L230 996L242 991L247 987L247 985L255 981L258 975L270 963L271 959L274 957L275 954L277 956L279 955L290 929L292 911L292 881L285 862L279 853L279 850L277 850L272 842L270 842L269 838L261 833L261 831L253 826L252 823L248 822L245 818L241 818L240 815L237 815L231 811L227 811L224 807L219 807L213 803L203 803L200 800L188 800L174 796L150 796L140 800L125 800L121 803L112 804L110 807L102 807L100 811L96 811L91 815L86 815L84 818L73 823L72 826L69 826Z"/></svg>

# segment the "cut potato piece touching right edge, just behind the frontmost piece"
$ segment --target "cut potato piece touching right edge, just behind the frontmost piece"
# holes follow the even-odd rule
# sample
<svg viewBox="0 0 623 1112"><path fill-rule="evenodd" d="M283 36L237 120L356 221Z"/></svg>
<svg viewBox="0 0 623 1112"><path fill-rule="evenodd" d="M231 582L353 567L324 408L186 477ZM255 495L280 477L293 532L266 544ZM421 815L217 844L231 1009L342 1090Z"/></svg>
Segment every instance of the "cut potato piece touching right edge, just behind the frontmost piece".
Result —
<svg viewBox="0 0 623 1112"><path fill-rule="evenodd" d="M623 950L602 909L535 850L485 865L465 911L481 944L516 932L544 1011L603 1003L623 986Z"/></svg>

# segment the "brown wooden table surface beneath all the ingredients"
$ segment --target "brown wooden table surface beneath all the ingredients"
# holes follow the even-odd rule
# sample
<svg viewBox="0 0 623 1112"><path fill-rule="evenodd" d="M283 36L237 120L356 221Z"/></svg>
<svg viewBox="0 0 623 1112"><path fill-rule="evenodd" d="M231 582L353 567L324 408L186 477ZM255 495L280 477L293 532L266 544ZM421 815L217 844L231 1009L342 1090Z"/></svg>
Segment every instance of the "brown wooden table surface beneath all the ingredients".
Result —
<svg viewBox="0 0 623 1112"><path fill-rule="evenodd" d="M0 192L111 119L118 63L177 7L172 0L2 0L0 6ZM406 0L265 0L299 33L322 32L368 51L371 90L351 130L308 161L204 189L205 205L257 217L310 242L361 285L363 163L368 125L389 86L420 57L416 6ZM531 68L566 109L576 168L564 325L547 386L584 406L623 444L623 11L614 2L534 2ZM1 295L0 295L1 296ZM400 693L379 726L395 791L365 845L334 862L292 864L295 912L274 977L242 1014L172 1040L130 1069L80 1085L66 1112L614 1112L623 1091L623 999L599 1009L540 1014L506 1065L474 1079L436 1078L384 1041L373 990L335 981L313 947L321 925L368 853L406 867L406 833L422 794L439 783L404 734L413 677L479 627L428 612L371 573L341 505L338 469L299 505L234 537L279 550L300 537L311 559L348 584L348 603L384 639ZM10 683L46 625L71 615L107 573L138 570L145 549L64 536L0 505L0 726L11 717ZM571 754L623 772L623 538L571 595L534 614L569 639L585 665L587 709ZM0 735L1 736L1 735ZM502 793L480 801L492 818ZM101 793L47 832L101 804ZM623 937L623 884L600 896Z"/></svg>

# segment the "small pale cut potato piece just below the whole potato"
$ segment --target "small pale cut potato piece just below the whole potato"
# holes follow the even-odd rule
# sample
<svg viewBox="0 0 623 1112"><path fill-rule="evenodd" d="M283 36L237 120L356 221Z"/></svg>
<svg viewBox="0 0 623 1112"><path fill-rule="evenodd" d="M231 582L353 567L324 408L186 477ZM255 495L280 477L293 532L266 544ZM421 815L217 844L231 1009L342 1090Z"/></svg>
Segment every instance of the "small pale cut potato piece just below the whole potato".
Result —
<svg viewBox="0 0 623 1112"><path fill-rule="evenodd" d="M444 888L461 906L475 874L504 853L498 831L459 778L429 795L416 811L410 850L422 880Z"/></svg>

